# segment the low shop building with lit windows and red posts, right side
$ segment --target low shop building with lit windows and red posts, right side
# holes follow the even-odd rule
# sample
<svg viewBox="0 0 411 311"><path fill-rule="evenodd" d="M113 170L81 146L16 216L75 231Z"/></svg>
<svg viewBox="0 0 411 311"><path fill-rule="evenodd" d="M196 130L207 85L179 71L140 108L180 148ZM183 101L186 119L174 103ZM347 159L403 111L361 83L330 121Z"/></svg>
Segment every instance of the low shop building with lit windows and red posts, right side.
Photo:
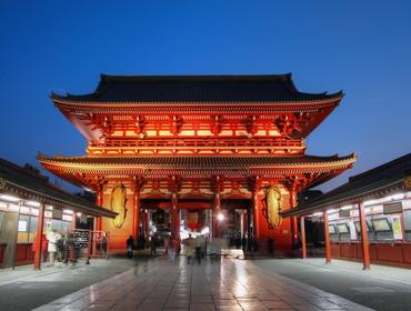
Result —
<svg viewBox="0 0 411 311"><path fill-rule="evenodd" d="M411 153L282 215L299 215L302 231L308 221L322 223L327 261L358 260L365 269L371 262L411 267Z"/></svg>

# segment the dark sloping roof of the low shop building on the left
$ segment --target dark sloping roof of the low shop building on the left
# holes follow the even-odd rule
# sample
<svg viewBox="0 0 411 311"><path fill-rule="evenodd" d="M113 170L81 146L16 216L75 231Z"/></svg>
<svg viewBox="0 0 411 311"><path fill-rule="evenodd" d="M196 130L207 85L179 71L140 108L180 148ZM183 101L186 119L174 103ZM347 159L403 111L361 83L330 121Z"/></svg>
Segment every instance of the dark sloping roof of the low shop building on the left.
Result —
<svg viewBox="0 0 411 311"><path fill-rule="evenodd" d="M16 193L22 199L27 197L56 204L60 208L74 209L91 215L104 215L114 218L117 213L102 209L92 202L71 194L49 183L49 179L39 174L38 171L21 168L12 162L0 159L0 180L4 182L2 192ZM26 198L24 198L26 197Z"/></svg>

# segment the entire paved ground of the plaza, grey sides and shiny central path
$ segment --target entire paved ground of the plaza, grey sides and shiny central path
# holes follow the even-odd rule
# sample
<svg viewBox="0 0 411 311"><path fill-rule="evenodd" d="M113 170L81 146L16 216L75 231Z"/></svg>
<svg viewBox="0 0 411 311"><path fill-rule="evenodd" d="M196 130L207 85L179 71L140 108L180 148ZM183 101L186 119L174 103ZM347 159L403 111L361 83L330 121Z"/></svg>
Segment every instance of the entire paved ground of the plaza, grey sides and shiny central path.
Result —
<svg viewBox="0 0 411 311"><path fill-rule="evenodd" d="M0 271L0 310L410 310L410 275L322 259L98 260Z"/></svg>

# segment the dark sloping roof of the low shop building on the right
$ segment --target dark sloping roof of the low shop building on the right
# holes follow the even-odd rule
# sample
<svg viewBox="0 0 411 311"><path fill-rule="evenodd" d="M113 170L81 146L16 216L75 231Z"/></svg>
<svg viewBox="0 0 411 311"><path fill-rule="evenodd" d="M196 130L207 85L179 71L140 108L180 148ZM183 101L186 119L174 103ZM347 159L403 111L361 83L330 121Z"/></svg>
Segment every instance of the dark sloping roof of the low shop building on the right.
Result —
<svg viewBox="0 0 411 311"><path fill-rule="evenodd" d="M348 200L383 191L389 187L403 184L403 180L411 175L411 153L373 168L369 171L351 177L349 182L303 202L297 209L284 212L284 215L312 212L315 209L331 204L345 203Z"/></svg>

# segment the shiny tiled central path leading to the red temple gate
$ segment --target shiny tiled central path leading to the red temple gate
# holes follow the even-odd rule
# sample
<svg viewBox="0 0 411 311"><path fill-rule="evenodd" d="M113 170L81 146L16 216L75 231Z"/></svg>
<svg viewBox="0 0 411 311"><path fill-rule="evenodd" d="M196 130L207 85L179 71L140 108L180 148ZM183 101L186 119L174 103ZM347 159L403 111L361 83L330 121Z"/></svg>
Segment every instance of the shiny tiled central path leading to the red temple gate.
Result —
<svg viewBox="0 0 411 311"><path fill-rule="evenodd" d="M371 310L251 264L158 258L40 310Z"/></svg>

